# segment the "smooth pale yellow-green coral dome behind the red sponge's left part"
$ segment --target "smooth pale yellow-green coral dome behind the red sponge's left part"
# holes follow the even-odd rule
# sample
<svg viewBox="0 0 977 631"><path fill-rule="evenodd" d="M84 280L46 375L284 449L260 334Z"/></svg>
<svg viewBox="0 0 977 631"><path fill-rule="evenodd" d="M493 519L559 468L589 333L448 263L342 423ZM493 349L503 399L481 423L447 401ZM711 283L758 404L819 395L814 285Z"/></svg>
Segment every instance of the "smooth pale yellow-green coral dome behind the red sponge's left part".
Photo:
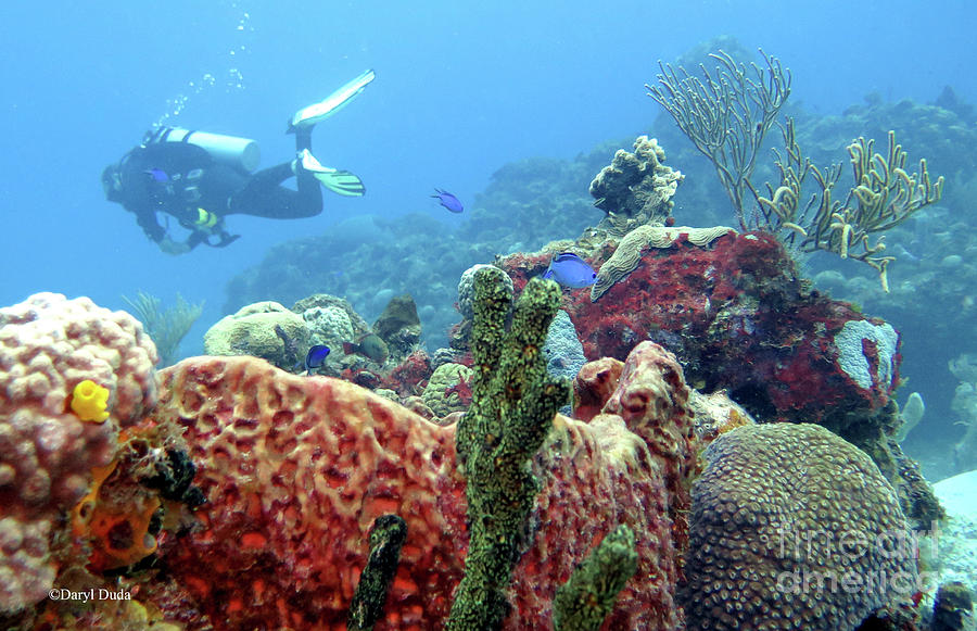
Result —
<svg viewBox="0 0 977 631"><path fill-rule="evenodd" d="M301 357L295 357L282 337L296 349L308 348L308 329L302 316L277 302L256 302L211 327L204 333L204 351L207 355L252 355L288 369Z"/></svg>

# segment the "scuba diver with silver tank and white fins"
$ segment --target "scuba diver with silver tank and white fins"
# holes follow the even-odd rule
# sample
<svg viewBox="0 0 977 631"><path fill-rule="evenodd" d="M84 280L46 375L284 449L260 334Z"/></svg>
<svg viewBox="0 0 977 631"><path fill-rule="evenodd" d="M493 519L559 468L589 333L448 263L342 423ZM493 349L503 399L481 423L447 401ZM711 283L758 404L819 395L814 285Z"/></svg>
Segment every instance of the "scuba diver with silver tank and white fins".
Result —
<svg viewBox="0 0 977 631"><path fill-rule="evenodd" d="M257 143L246 138L161 127L142 144L102 172L105 199L122 204L153 242L167 254L182 254L205 243L224 248L231 235L224 217L233 214L275 219L313 217L322 212L319 184L346 197L360 197L363 181L347 171L322 166L312 153L316 123L347 104L373 80L367 71L327 97L303 108L289 121L297 156L252 173L259 161ZM295 190L281 186L295 177ZM161 225L156 213L164 214ZM169 217L190 230L186 240L169 235Z"/></svg>

